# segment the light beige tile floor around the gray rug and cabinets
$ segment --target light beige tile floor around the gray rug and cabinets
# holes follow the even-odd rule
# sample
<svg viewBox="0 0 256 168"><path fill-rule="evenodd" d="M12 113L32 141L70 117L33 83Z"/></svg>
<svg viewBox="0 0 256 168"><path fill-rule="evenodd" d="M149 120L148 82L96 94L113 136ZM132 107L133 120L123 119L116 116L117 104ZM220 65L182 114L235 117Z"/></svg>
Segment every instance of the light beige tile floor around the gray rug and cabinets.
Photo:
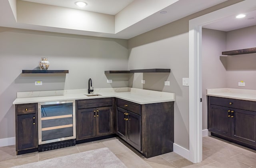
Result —
<svg viewBox="0 0 256 168"><path fill-rule="evenodd" d="M147 159L130 146L120 142L118 138L110 138L19 156L16 156L14 145L0 147L0 168L38 162L103 147L108 147L128 168L256 168L255 150L213 136L203 138L203 160L197 164L193 164L175 152Z"/></svg>

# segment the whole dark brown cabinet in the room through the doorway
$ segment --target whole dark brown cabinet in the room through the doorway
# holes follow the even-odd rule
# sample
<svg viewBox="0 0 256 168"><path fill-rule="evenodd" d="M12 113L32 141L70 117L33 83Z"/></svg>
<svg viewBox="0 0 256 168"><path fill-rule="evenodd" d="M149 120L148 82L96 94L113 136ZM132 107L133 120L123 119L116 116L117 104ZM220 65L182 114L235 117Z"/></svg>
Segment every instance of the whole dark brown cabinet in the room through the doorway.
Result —
<svg viewBox="0 0 256 168"><path fill-rule="evenodd" d="M208 96L208 130L256 149L256 102Z"/></svg>

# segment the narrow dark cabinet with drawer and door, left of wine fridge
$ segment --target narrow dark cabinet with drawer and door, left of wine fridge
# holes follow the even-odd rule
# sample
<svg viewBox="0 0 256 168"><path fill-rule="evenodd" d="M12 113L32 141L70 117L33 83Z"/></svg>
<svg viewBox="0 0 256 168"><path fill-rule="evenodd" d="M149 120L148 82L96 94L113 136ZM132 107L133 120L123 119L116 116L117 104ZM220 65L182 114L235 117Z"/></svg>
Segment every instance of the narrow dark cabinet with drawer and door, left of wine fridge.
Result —
<svg viewBox="0 0 256 168"><path fill-rule="evenodd" d="M37 103L16 104L16 153L38 151Z"/></svg>

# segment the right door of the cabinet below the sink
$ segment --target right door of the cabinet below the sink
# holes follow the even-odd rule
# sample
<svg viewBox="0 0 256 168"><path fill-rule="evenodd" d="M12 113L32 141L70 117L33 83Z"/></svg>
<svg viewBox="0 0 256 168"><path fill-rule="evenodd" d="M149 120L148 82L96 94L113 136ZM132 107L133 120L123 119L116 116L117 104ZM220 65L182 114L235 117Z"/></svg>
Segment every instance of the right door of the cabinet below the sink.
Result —
<svg viewBox="0 0 256 168"><path fill-rule="evenodd" d="M113 133L112 107L96 108L96 135Z"/></svg>

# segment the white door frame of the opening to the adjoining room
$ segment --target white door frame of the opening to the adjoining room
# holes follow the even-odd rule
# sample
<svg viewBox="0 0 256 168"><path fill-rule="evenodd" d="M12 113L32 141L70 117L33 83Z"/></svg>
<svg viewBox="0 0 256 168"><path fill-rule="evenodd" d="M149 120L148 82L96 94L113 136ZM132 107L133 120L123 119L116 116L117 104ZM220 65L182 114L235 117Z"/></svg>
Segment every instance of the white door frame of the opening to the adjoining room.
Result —
<svg viewBox="0 0 256 168"><path fill-rule="evenodd" d="M189 21L189 160L202 161L202 26L226 16L255 10L255 0L244 0Z"/></svg>

